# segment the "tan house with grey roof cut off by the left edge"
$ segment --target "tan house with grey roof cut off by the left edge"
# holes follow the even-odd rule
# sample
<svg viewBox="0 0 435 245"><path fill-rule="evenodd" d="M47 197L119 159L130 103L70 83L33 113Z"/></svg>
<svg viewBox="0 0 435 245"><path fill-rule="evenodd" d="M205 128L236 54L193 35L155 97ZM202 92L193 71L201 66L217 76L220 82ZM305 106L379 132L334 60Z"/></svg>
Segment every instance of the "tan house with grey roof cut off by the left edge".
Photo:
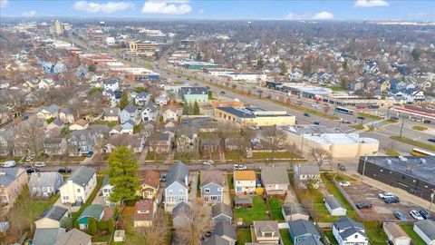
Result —
<svg viewBox="0 0 435 245"><path fill-rule="evenodd" d="M24 169L0 168L0 205L9 210L27 183L27 172Z"/></svg>

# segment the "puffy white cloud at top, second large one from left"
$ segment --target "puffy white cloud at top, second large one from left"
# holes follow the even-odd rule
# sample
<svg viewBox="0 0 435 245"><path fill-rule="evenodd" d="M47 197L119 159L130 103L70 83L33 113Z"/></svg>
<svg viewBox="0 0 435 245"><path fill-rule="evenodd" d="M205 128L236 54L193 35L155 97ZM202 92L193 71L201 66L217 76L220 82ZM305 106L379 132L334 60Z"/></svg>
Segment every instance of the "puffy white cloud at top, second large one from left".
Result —
<svg viewBox="0 0 435 245"><path fill-rule="evenodd" d="M192 11L187 0L150 0L145 2L142 13L160 15L184 15Z"/></svg>

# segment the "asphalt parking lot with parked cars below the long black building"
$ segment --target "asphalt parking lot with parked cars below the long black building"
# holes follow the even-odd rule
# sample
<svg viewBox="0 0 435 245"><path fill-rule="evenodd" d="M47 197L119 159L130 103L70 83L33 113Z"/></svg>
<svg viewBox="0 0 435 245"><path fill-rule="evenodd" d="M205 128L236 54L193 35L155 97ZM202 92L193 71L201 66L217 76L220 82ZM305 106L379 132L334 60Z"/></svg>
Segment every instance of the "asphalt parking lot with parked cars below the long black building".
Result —
<svg viewBox="0 0 435 245"><path fill-rule="evenodd" d="M385 203L382 199L378 198L378 194L383 191L364 182L353 182L351 187L343 187L343 189L353 202L368 201L372 204L372 209L361 210L371 220L396 220L393 215L394 211L403 213L407 220L414 220L410 215L410 211L421 210L420 206L404 200L401 200L399 203Z"/></svg>

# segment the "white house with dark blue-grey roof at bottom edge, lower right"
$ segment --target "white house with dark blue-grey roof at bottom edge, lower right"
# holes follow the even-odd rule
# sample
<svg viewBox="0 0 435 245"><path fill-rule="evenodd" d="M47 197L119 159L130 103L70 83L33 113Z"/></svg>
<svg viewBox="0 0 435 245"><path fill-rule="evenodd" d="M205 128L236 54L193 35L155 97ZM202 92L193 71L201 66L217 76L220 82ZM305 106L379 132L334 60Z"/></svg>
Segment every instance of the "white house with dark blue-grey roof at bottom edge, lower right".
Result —
<svg viewBox="0 0 435 245"><path fill-rule="evenodd" d="M333 237L339 245L361 244L368 245L369 239L365 235L362 223L344 216L333 222Z"/></svg>

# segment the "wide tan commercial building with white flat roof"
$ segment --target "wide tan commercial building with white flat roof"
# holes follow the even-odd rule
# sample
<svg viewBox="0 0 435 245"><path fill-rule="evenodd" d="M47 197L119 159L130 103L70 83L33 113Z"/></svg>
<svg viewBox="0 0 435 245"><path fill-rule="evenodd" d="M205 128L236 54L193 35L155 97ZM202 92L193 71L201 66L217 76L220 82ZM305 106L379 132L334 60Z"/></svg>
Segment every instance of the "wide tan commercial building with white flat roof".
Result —
<svg viewBox="0 0 435 245"><path fill-rule="evenodd" d="M345 133L338 128L322 125L296 125L282 127L287 132L287 141L299 144L302 152L311 152L313 148L324 149L333 158L357 158L372 156L379 150L379 141L360 137L358 133Z"/></svg>

